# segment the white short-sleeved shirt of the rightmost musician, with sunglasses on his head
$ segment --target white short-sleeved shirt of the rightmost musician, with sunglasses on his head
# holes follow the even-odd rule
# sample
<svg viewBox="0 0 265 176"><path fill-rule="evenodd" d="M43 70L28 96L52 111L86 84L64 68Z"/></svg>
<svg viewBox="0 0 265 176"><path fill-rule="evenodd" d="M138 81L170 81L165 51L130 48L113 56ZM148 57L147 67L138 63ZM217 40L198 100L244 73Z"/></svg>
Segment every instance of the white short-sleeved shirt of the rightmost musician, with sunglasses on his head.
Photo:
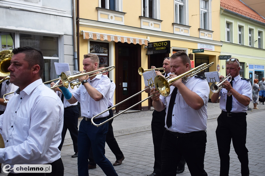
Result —
<svg viewBox="0 0 265 176"><path fill-rule="evenodd" d="M240 75L237 75L233 82L233 89L237 91L238 93L245 95L250 98L250 101L252 101L252 86L251 83L247 80L241 79ZM226 111L226 98L227 98L227 90L222 89L219 92L220 95L220 109L222 111ZM233 96L232 97L232 110L231 112L246 112L248 110L247 106L244 106L243 104L239 103L237 99Z"/></svg>

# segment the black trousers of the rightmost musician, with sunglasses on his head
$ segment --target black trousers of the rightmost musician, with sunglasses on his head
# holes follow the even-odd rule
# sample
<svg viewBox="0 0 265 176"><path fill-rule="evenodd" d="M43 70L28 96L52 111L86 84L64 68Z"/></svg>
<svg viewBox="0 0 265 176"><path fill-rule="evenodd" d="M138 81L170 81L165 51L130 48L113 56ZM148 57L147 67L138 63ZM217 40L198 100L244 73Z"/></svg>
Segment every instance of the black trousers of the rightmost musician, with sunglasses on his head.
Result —
<svg viewBox="0 0 265 176"><path fill-rule="evenodd" d="M248 149L246 148L247 122L246 115L227 117L226 113L217 118L216 139L220 156L220 175L228 175L230 163L231 139L237 157L241 163L241 175L249 175Z"/></svg>

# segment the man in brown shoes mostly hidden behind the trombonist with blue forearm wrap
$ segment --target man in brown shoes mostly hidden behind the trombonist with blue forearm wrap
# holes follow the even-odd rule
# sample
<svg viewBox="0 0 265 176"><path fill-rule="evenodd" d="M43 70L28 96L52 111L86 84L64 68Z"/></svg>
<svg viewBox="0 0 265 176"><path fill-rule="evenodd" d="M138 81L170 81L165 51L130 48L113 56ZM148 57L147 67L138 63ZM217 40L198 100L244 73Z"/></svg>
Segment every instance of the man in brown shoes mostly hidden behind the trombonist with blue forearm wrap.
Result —
<svg viewBox="0 0 265 176"><path fill-rule="evenodd" d="M103 69L103 68L106 68L108 67L107 64L100 64L99 65L99 69ZM103 75L108 75L109 72L105 72L105 73L102 73ZM114 91L115 91L115 83L110 79L110 82L111 82L111 89L110 89L110 97L109 97L109 107L112 107L113 106L113 98L114 98ZM109 110L109 116L107 117L107 119L113 117L113 112L112 110ZM122 161L124 160L124 156L123 156L123 153L114 137L114 134L113 134L113 127L112 127L112 122L113 122L113 119L108 121L108 124L109 124L109 128L108 128L108 132L107 132L107 135L106 135L106 143L108 144L109 146L109 149L111 149L112 153L115 155L116 157L116 161L115 163L113 164L113 166L118 166L118 165L121 165L122 164ZM92 153L92 150L90 150L90 154L89 154L89 165L88 165L88 169L95 169L96 168L96 163L94 161L94 158L93 158L93 153Z"/></svg>

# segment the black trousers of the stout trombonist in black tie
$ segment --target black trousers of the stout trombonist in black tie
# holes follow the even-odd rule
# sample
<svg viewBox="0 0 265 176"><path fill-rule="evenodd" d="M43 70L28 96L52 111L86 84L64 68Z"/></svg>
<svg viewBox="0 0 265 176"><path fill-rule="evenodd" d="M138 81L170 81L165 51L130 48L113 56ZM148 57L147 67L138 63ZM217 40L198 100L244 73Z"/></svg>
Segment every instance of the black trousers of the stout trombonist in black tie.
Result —
<svg viewBox="0 0 265 176"><path fill-rule="evenodd" d="M207 175L204 170L206 141L206 131L196 131L188 133L187 136L178 136L166 130L161 145L161 175L176 175L176 165L182 156L185 158L192 176Z"/></svg>

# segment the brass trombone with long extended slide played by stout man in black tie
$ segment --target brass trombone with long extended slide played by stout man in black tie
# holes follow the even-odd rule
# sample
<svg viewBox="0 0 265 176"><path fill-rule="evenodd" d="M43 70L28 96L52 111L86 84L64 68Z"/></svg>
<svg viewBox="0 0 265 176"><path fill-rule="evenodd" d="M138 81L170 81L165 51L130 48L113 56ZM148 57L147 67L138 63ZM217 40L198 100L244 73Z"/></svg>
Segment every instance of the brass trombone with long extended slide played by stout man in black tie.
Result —
<svg viewBox="0 0 265 176"><path fill-rule="evenodd" d="M212 66L213 64L214 64L214 62L212 62L212 63L210 63L210 64L208 64L208 65L207 65L206 63L201 64L200 66L197 66L196 68L194 68L194 69L192 69L192 70L189 70L188 72L185 72L185 73L183 73L183 74L181 74L181 75L179 75L179 76L177 76L177 77L174 77L174 78L171 78L171 79L168 79L168 80L167 80L165 77L158 75L158 76L155 77L155 80L154 80L154 84L153 84L153 85L155 86L155 88L156 88L156 90L158 91L158 93L160 93L162 96L164 96L164 97L169 96L169 93L170 93L170 85L171 85L171 84L173 84L174 82L176 82L176 81L179 80L179 79L186 80L188 77L193 77L193 76L195 76L196 74L198 74L198 73L200 73L200 72L206 70L207 68L209 68L209 67ZM105 111L99 113L98 115L95 115L94 117L91 118L91 123L92 123L93 125L95 125L96 127L99 127L99 126L103 125L104 123L107 123L108 121L112 120L113 118L115 118L115 117L117 117L117 116L123 114L124 112L128 111L129 109L135 107L136 105L138 105L138 104L144 102L145 100L151 98L151 97L154 96L155 94L153 94L153 95L151 95L151 96L149 96L149 97L143 99L142 101L140 101L140 102L134 104L133 106L127 108L126 110L123 110L122 112L120 112L120 113L118 113L117 115L115 115L115 116L109 118L108 120L105 120L104 122L101 122L100 124L96 124L96 123L93 121L94 118L100 116L101 114L103 114L103 113L105 113L105 112L111 110L112 108L114 108L114 107L120 105L121 103L123 103L123 102L125 102L125 101L127 101L127 100L129 100L129 99L131 99L131 98L133 98L133 97L135 97L136 95L139 95L140 93L144 92L145 90L147 90L147 89L149 89L149 88L151 89L153 85L150 84L150 87L147 87L147 88L143 89L142 91L140 91L140 92L134 94L133 96L131 96L131 97L129 97L129 98L127 98L127 99L121 101L120 103L118 103L118 104L116 104L116 105L114 105L114 106L108 108L107 110L105 110Z"/></svg>

